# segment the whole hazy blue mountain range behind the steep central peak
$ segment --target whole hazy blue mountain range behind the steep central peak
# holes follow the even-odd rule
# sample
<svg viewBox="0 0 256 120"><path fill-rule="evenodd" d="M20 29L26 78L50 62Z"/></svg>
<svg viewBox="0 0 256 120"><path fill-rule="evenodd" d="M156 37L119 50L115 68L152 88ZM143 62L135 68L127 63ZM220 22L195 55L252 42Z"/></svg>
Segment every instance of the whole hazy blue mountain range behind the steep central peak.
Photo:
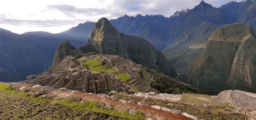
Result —
<svg viewBox="0 0 256 120"><path fill-rule="evenodd" d="M215 29L235 22L256 29L255 13L256 1L252 0L232 1L218 8L202 1L193 9L177 11L171 17L125 15L110 20L110 23L119 32L149 40L157 50L163 51L179 73L187 73L191 63L205 49L207 40ZM84 33L89 35L89 28L92 26L86 29L80 28L85 26L78 25L73 29L84 29ZM79 33L79 30L76 32Z"/></svg>

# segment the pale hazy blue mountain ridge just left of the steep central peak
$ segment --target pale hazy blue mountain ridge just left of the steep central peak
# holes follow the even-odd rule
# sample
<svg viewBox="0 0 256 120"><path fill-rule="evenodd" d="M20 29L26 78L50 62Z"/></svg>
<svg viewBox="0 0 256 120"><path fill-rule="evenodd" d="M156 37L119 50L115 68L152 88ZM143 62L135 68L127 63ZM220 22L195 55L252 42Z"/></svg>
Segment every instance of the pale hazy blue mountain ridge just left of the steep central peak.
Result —
<svg viewBox="0 0 256 120"><path fill-rule="evenodd" d="M95 25L95 22L85 22L84 24L79 24L76 27L70 28L68 31L64 31L57 34L52 34L48 32L26 32L23 33L25 35L35 35L35 36L43 36L47 38L55 38L55 39L62 39L72 41L82 41L85 43L91 33L92 27ZM79 44L81 46L82 44ZM78 47L78 46L76 46Z"/></svg>

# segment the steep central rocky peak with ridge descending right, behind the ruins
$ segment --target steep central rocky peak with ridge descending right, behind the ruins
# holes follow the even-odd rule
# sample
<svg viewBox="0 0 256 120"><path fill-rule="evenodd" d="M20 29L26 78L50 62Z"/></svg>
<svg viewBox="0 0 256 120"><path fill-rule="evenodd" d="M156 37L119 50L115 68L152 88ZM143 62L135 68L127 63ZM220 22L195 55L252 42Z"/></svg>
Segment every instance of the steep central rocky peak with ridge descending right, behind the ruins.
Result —
<svg viewBox="0 0 256 120"><path fill-rule="evenodd" d="M87 43L100 53L119 55L170 77L177 76L164 54L157 51L149 41L119 33L106 18L99 19L95 24Z"/></svg>

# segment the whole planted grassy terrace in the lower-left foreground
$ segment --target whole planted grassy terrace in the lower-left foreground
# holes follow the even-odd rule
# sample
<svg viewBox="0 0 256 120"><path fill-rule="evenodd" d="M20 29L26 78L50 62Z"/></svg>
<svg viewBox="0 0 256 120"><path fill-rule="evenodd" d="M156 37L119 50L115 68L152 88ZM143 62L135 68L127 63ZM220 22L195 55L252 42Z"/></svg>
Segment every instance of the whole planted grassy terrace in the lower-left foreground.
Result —
<svg viewBox="0 0 256 120"><path fill-rule="evenodd" d="M141 111L131 115L129 110L98 107L97 103L34 97L0 84L0 118L3 119L144 119Z"/></svg>

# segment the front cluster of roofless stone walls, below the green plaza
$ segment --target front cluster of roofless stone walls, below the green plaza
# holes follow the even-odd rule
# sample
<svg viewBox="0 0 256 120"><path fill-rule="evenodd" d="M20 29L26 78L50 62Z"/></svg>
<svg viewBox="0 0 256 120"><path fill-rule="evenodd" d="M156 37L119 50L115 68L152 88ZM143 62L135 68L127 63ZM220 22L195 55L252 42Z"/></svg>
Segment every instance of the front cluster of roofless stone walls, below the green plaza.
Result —
<svg viewBox="0 0 256 120"><path fill-rule="evenodd" d="M86 69L70 69L68 71L46 72L38 76L28 77L26 84L67 88L87 93L103 93L110 91L129 92L129 87L111 73L93 73ZM109 88L111 86L111 88Z"/></svg>

